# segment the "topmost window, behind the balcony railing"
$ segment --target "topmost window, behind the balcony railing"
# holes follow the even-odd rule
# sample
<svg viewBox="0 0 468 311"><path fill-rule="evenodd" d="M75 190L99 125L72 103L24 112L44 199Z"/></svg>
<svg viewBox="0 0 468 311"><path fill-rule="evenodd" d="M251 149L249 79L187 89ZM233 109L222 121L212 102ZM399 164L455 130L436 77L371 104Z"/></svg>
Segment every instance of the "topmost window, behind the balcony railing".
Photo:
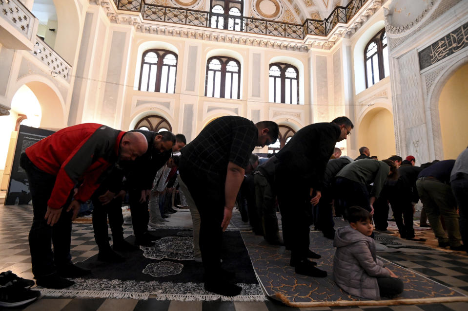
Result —
<svg viewBox="0 0 468 311"><path fill-rule="evenodd" d="M243 0L211 0L210 27L242 31Z"/></svg>

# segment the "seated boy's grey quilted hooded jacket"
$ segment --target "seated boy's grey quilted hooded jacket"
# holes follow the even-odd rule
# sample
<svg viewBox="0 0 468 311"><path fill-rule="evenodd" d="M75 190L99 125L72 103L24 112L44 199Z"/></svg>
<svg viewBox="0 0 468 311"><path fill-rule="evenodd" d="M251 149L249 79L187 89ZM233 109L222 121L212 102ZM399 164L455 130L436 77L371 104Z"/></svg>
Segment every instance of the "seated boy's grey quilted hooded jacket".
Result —
<svg viewBox="0 0 468 311"><path fill-rule="evenodd" d="M384 263L375 257L375 242L346 226L335 233L333 276L336 284L351 295L380 299L377 276L390 276Z"/></svg>

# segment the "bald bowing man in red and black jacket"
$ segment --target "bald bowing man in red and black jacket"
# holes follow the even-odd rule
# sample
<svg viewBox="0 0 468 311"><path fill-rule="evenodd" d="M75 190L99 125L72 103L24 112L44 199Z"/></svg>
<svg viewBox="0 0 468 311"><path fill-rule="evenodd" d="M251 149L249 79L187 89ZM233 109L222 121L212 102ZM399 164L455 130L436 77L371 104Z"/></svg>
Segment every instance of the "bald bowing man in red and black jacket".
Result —
<svg viewBox="0 0 468 311"><path fill-rule="evenodd" d="M119 160L135 160L147 148L141 133L86 123L63 128L21 154L33 201L29 248L37 285L61 289L74 284L66 277L90 273L71 263L71 221L108 169Z"/></svg>

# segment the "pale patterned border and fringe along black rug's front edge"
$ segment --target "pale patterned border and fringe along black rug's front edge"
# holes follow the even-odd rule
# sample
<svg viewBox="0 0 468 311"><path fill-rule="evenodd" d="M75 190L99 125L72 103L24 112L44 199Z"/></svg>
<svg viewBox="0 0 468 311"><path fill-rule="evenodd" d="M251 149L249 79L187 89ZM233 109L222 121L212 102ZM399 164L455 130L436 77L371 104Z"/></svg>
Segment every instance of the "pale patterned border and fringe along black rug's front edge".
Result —
<svg viewBox="0 0 468 311"><path fill-rule="evenodd" d="M115 298L115 299L137 299L147 300L151 295L156 300L175 301L265 301L265 295L238 295L228 297L216 294L164 294L164 293L125 293L125 292L102 292L102 291L70 291L70 290L50 290L40 289L41 294L48 297L87 297L87 298Z"/></svg>

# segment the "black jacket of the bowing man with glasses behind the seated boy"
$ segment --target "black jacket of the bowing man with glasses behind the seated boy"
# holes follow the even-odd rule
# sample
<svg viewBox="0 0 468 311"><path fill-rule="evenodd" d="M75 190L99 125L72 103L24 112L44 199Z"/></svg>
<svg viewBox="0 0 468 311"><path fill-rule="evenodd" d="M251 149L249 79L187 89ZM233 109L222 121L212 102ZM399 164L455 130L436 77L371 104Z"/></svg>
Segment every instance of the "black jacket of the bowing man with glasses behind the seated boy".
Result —
<svg viewBox="0 0 468 311"><path fill-rule="evenodd" d="M301 128L276 154L282 171L308 188L321 190L326 164L340 134L340 127L331 122Z"/></svg>

